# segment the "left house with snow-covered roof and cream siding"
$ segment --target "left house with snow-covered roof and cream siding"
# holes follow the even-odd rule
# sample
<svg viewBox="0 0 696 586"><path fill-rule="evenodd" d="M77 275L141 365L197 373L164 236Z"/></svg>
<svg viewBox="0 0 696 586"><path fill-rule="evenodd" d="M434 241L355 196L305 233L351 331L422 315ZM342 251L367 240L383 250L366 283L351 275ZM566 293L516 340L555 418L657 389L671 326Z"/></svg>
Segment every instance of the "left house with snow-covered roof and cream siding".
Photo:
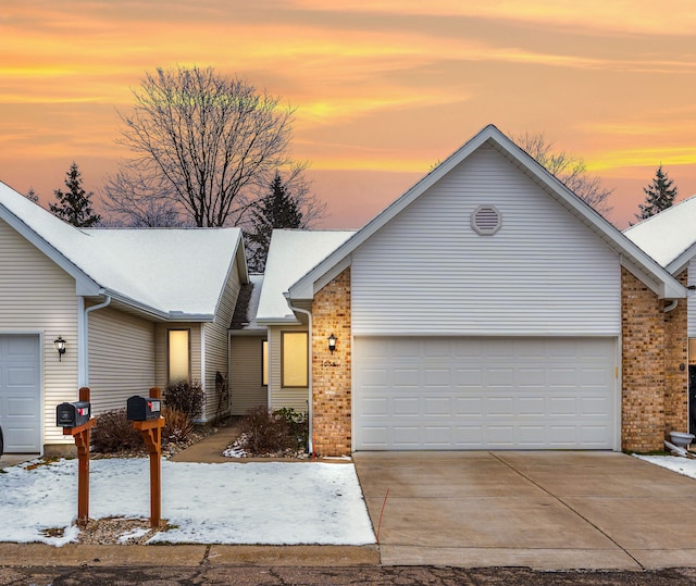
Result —
<svg viewBox="0 0 696 586"><path fill-rule="evenodd" d="M228 327L248 280L239 229L75 228L0 184L0 250L5 451L65 450L73 439L55 406L82 386L98 414L197 379L202 420L228 412L215 382L228 376Z"/></svg>

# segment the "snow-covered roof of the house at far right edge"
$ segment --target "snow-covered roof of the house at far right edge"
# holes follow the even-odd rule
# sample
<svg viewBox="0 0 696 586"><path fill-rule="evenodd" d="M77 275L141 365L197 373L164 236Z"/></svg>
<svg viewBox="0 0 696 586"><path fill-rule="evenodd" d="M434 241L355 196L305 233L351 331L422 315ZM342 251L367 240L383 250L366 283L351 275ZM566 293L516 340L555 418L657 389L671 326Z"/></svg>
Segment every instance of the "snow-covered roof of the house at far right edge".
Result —
<svg viewBox="0 0 696 586"><path fill-rule="evenodd" d="M623 234L675 275L696 255L696 196L625 229Z"/></svg>

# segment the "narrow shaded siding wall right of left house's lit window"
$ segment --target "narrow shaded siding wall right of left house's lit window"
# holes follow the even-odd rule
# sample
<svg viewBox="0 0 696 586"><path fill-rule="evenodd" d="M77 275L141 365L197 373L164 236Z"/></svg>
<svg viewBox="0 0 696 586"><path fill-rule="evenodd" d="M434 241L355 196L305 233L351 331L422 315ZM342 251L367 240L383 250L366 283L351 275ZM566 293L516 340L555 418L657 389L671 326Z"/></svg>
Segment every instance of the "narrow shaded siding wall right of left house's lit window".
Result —
<svg viewBox="0 0 696 586"><path fill-rule="evenodd" d="M219 396L215 386L215 374L220 372L227 379L227 384L229 384L227 373L229 364L228 332L240 288L239 274L235 264L220 300L215 321L203 324L203 339L206 341L203 360L206 363L207 421L214 420L229 412L229 388L227 388L226 394Z"/></svg>

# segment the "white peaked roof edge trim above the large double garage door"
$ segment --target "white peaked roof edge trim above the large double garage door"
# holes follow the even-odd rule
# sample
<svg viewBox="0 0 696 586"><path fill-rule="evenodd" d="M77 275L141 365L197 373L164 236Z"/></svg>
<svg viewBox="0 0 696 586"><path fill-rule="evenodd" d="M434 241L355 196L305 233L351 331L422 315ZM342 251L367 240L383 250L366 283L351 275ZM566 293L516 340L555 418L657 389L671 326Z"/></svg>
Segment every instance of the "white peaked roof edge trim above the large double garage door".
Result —
<svg viewBox="0 0 696 586"><path fill-rule="evenodd" d="M667 273L648 254L641 250L621 232L612 226L593 208L573 194L566 185L548 173L532 157L520 149L498 128L488 125L458 151L451 154L440 165L425 175L418 184L394 201L388 208L375 216L363 228L355 234L343 246L326 257L319 265L303 275L289 288L293 302L313 299L314 292L336 277L350 264L350 254L368 240L385 224L390 222L403 209L420 198L433 185L450 173L457 165L465 161L477 149L487 146L496 149L502 157L513 163L522 173L539 185L559 204L577 217L599 238L601 238L617 254L621 263L639 276L660 298L684 298L686 289Z"/></svg>

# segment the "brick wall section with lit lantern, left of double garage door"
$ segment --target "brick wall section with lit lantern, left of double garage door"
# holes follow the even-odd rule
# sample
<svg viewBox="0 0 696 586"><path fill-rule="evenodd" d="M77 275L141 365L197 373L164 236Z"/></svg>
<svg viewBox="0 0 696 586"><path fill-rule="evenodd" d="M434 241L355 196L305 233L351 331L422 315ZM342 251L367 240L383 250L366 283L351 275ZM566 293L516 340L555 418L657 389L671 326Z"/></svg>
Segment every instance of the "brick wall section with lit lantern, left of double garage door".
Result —
<svg viewBox="0 0 696 586"><path fill-rule="evenodd" d="M328 351L328 336L336 351ZM312 435L320 456L351 451L350 267L314 296L312 303Z"/></svg>

